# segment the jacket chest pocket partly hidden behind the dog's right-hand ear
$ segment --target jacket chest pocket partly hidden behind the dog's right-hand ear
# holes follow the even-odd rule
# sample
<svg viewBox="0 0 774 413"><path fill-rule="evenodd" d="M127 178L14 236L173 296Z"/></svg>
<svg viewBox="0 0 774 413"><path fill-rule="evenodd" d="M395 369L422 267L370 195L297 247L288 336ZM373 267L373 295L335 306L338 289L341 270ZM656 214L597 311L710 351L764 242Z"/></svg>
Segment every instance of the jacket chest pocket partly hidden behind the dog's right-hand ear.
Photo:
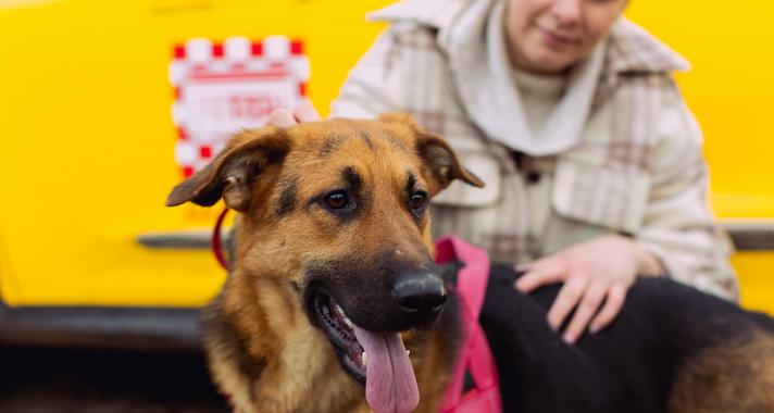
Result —
<svg viewBox="0 0 774 413"><path fill-rule="evenodd" d="M458 151L462 164L486 184L476 188L454 180L448 188L433 198L433 203L442 206L487 206L500 200L500 164L497 159L479 151Z"/></svg>

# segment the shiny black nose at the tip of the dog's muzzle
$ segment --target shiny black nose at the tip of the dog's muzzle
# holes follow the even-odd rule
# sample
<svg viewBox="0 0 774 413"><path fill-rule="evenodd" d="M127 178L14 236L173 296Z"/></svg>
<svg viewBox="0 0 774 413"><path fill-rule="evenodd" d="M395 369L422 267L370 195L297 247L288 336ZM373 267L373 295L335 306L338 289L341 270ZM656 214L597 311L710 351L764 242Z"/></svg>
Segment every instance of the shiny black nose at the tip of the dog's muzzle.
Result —
<svg viewBox="0 0 774 413"><path fill-rule="evenodd" d="M446 287L433 273L401 274L392 287L392 298L411 312L439 312L446 302Z"/></svg>

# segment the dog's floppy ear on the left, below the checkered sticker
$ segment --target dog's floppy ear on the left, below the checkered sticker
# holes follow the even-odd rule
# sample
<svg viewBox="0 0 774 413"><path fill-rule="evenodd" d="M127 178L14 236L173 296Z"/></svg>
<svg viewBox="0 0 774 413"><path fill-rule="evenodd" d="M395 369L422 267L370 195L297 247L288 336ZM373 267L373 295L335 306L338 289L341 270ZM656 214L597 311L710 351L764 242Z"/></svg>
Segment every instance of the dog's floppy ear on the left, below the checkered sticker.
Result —
<svg viewBox="0 0 774 413"><path fill-rule="evenodd" d="M223 197L228 208L244 212L250 204L253 179L282 162L289 150L290 137L278 127L241 132L204 168L172 189L166 205L190 201L212 206Z"/></svg>

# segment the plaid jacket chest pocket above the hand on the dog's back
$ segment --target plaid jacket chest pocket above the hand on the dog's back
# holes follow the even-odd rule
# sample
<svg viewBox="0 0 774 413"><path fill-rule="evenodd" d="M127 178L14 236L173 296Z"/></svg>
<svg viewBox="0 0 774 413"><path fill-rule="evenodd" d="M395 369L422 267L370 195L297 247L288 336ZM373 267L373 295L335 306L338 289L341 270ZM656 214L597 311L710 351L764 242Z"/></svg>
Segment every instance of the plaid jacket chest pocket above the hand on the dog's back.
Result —
<svg viewBox="0 0 774 413"><path fill-rule="evenodd" d="M561 158L554 179L551 202L559 215L628 234L642 225L649 175Z"/></svg>

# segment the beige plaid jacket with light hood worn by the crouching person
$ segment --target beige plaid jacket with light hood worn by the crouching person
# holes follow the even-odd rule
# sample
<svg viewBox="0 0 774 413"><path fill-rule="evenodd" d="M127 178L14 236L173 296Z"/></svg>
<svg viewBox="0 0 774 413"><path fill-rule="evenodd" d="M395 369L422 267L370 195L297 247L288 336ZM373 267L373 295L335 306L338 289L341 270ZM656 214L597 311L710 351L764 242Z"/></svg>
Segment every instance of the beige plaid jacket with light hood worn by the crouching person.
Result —
<svg viewBox="0 0 774 413"><path fill-rule="evenodd" d="M436 236L453 233L495 260L524 263L627 234L672 278L736 299L729 243L708 208L701 133L671 77L687 63L622 18L592 53L594 82L571 83L572 101L560 103L571 110L550 118L558 139L525 139L513 122L511 72L483 40L502 1L405 0L372 14L390 27L350 72L332 114L411 112L486 182L453 184L434 200Z"/></svg>

